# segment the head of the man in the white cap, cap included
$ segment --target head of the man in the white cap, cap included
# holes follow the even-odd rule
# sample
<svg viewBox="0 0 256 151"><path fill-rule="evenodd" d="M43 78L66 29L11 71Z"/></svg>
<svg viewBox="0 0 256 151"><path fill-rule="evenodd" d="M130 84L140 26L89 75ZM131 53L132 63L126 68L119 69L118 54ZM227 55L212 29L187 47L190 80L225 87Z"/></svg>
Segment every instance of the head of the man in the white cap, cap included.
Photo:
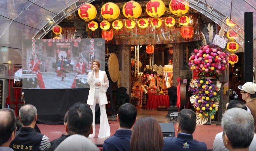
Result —
<svg viewBox="0 0 256 151"><path fill-rule="evenodd" d="M242 94L242 99L247 103L251 101L251 99L256 98L256 84L253 82L246 82L244 85L239 85L238 89L242 90L240 93Z"/></svg>

